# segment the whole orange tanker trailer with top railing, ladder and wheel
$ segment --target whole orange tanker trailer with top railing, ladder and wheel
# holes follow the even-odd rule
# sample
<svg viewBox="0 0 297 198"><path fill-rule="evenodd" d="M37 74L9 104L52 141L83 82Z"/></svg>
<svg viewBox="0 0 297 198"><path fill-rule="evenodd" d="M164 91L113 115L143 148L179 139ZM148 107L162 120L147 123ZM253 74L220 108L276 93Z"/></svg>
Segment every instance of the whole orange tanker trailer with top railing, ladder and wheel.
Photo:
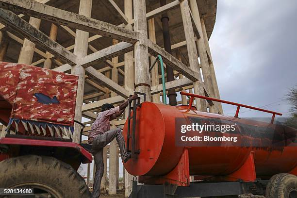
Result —
<svg viewBox="0 0 297 198"><path fill-rule="evenodd" d="M124 166L138 176L130 198L297 198L297 131L275 121L280 113L181 95L190 98L189 105L134 101L129 108L123 133L132 159ZM237 110L234 116L197 111L195 98L236 105ZM240 118L241 107L272 116L268 122ZM195 128L198 124L202 130ZM231 132L226 127L206 130L209 125L228 125Z"/></svg>

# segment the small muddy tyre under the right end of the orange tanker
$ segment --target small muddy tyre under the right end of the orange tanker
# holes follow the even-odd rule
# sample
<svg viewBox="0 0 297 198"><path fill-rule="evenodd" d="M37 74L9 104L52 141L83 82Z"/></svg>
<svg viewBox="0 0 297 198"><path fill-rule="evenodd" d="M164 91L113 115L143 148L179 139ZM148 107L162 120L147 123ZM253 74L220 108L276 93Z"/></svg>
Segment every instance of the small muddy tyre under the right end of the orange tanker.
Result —
<svg viewBox="0 0 297 198"><path fill-rule="evenodd" d="M281 173L270 178L265 192L266 198L297 198L297 177Z"/></svg>

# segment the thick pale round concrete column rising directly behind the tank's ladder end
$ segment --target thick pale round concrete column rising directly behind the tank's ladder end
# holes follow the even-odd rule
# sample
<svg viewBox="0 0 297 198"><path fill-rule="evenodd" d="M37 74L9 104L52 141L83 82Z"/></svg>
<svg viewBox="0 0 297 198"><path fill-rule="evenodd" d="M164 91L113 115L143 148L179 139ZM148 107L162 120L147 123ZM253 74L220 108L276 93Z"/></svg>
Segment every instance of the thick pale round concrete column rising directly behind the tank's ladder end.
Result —
<svg viewBox="0 0 297 198"><path fill-rule="evenodd" d="M135 86L136 91L145 93L147 100L150 101L148 46L146 45L148 38L146 1L134 0L133 8L134 31L140 33L139 41L134 44Z"/></svg>

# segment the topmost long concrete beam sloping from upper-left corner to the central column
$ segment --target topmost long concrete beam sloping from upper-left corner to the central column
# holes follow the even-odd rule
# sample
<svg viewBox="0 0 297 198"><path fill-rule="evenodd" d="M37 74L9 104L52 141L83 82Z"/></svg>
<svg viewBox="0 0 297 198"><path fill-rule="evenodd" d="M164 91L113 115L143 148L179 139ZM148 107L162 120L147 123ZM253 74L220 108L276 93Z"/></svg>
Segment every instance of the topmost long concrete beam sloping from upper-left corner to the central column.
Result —
<svg viewBox="0 0 297 198"><path fill-rule="evenodd" d="M34 0L0 0L0 2L1 8L48 20L53 23L65 25L85 32L95 33L129 43L134 43L139 38L139 33L137 32L38 3Z"/></svg>

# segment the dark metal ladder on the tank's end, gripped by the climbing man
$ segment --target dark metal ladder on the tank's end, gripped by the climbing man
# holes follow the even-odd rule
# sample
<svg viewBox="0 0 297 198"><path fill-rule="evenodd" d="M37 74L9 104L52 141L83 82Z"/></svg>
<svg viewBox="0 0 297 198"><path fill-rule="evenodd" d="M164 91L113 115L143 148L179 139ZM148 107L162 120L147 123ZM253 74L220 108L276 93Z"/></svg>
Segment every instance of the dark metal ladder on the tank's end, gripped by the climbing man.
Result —
<svg viewBox="0 0 297 198"><path fill-rule="evenodd" d="M134 94L142 95L143 101L146 101L146 94L141 92L134 92ZM131 106L133 102L133 106ZM128 131L127 131L127 150L131 153L131 158L136 159L136 155L140 153L139 149L135 148L135 131L136 131L136 109L141 107L140 97L133 99L129 102L129 112L128 112ZM133 115L131 116L131 110L133 110ZM131 132L131 119L132 119L132 132ZM132 134L131 134L132 133ZM130 150L130 138L132 138L132 149Z"/></svg>

